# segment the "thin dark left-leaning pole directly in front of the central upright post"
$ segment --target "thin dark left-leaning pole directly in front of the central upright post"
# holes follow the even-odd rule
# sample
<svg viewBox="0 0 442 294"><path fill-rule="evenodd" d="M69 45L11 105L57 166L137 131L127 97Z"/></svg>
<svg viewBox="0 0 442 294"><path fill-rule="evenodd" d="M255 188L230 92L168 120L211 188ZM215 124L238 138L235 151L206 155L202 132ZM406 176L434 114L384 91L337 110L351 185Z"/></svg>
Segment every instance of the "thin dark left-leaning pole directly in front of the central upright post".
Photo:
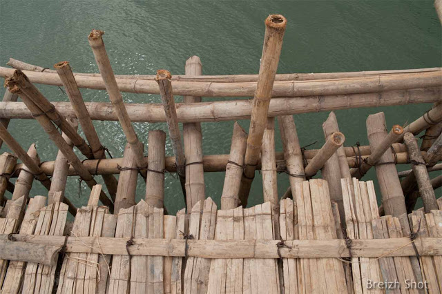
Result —
<svg viewBox="0 0 442 294"><path fill-rule="evenodd" d="M182 193L184 201L187 202L187 209L191 209L201 199L186 199L186 158L184 157L184 148L182 147L180 126L178 126L177 110L175 108L175 99L173 98L171 73L168 70L157 71L157 83L160 88L161 100L164 106L164 113L166 114L167 128L169 129L169 137L172 141L173 155L177 160L177 173L180 177ZM198 196L198 195L195 195ZM204 195L202 195L204 199Z"/></svg>

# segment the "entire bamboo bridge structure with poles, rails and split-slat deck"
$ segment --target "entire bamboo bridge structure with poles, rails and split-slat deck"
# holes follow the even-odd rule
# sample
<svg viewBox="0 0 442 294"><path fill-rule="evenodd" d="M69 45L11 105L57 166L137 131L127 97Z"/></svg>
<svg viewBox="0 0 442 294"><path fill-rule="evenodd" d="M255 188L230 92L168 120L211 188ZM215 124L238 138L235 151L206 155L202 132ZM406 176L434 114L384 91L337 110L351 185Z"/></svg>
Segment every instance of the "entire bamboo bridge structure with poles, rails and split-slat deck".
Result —
<svg viewBox="0 0 442 294"><path fill-rule="evenodd" d="M286 25L279 14L265 20L258 75L202 75L196 56L185 75L114 75L100 30L88 36L99 73L73 72L68 61L0 67L0 146L12 150L0 155L1 293L442 293L441 68L277 75ZM35 84L63 87L69 101L52 102ZM85 102L80 88L106 90L111 101ZM157 94L162 104L125 104L122 92ZM369 146L344 146L333 112L422 103L433 106L406 126L369 115ZM329 112L319 149L300 147L293 115L306 112ZM35 119L59 149L55 160L41 161L35 144L23 149L10 119ZM240 119L250 119L249 132L234 124L229 154L203 154L202 123ZM93 120L119 121L122 158L106 157ZM136 121L165 122L169 133L151 130L143 144ZM398 173L397 164L412 169ZM361 180L370 168L380 207L374 183ZM262 204L248 207L257 170ZM218 171L220 207L204 184ZM164 207L166 172L177 173L186 203L176 215ZM289 175L282 197L278 173ZM136 203L139 175L146 197ZM90 188L87 206L65 197L68 177ZM33 182L48 195L30 195Z"/></svg>

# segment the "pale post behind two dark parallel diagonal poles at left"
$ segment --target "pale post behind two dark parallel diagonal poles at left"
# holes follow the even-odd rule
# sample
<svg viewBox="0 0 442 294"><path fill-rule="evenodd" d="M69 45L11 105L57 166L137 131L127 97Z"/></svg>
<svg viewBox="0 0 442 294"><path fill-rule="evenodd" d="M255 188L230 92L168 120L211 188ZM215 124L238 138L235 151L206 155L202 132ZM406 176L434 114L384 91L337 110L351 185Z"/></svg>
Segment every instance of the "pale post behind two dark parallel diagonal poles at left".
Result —
<svg viewBox="0 0 442 294"><path fill-rule="evenodd" d="M77 119L74 119L73 117L68 117L66 119L68 123L77 130L78 128L78 121ZM66 144L70 146L70 148L73 148L73 142L70 141L68 136L66 136L65 133L61 134L61 137L66 141ZM64 155L61 150L58 150L57 157L55 158L54 162L54 174L52 175L52 184L50 185L49 193L48 193L48 205L54 203L54 195L56 192L61 192L61 199L64 198L64 190L66 188L66 182L68 180L68 170L69 170L69 162L68 159L66 159L66 156Z"/></svg>

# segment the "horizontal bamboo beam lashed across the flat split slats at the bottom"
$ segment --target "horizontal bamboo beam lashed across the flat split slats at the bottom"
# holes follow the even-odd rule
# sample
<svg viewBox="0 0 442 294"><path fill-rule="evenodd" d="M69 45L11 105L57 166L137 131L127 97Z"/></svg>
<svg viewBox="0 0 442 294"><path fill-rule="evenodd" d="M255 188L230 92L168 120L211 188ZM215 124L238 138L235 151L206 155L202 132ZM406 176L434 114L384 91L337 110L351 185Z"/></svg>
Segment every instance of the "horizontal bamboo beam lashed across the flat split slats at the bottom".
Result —
<svg viewBox="0 0 442 294"><path fill-rule="evenodd" d="M66 236L10 235L17 242L63 246ZM349 257L345 239L287 240L278 248L280 240L206 240L206 239L133 239L111 237L67 237L66 252L111 255L151 255L204 258L342 258ZM0 244L8 235L0 235ZM442 238L418 237L414 242L419 255L442 255ZM1 246L1 245L0 245ZM187 248L186 248L187 246ZM280 255L278 255L278 252ZM354 239L352 257L414 256L416 251L410 238ZM384 256L384 257L385 257Z"/></svg>

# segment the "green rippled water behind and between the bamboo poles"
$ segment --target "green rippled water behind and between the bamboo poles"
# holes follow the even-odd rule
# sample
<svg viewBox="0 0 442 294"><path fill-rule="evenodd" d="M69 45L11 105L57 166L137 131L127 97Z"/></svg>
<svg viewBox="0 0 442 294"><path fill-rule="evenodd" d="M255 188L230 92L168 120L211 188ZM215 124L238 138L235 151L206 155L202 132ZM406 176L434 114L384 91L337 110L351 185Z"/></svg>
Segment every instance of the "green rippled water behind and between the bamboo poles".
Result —
<svg viewBox="0 0 442 294"><path fill-rule="evenodd" d="M9 57L51 68L68 60L77 72L97 72L87 36L104 30L104 42L114 71L119 74L155 74L166 68L184 74L184 62L198 55L205 75L257 73L268 14L285 15L288 26L279 73L393 70L442 66L441 25L433 1L0 1L0 64ZM39 85L50 101L68 101L53 86ZM3 95L3 90L0 90ZM106 92L82 90L85 101L108 101ZM156 95L123 93L128 103L159 103ZM181 97L176 97L181 101ZM203 98L211 101L213 98ZM405 124L421 116L429 104L337 111L346 146L367 144L367 115L384 111L387 126ZM300 144L323 142L322 122L328 112L295 115ZM116 121L95 121L102 144L122 157L126 140ZM249 121L240 121L248 129ZM134 124L146 143L149 130L165 124ZM233 121L202 124L204 154L229 153ZM57 148L35 121L12 120L10 133L27 149L37 144L41 160L54 160ZM79 130L81 132L81 130ZM276 129L276 150L282 150ZM5 144L0 150L8 151ZM79 153L77 153L79 154ZM171 155L167 141L166 155ZM84 157L80 156L81 159ZM401 170L408 166L399 167ZM434 176L434 173L433 175ZM206 196L220 203L224 173L206 173ZM374 179L370 170L365 179ZM15 179L14 179L15 180ZM98 182L102 179L97 178ZM68 179L66 196L86 204L88 188L78 197L77 177ZM170 213L184 207L180 184L166 175L165 205ZM287 175L278 175L280 195ZM259 173L249 205L262 202ZM144 197L139 177L137 199ZM441 189L436 193L440 196ZM8 197L10 194L7 193ZM36 182L31 195L47 195ZM378 195L378 198L380 195Z"/></svg>

